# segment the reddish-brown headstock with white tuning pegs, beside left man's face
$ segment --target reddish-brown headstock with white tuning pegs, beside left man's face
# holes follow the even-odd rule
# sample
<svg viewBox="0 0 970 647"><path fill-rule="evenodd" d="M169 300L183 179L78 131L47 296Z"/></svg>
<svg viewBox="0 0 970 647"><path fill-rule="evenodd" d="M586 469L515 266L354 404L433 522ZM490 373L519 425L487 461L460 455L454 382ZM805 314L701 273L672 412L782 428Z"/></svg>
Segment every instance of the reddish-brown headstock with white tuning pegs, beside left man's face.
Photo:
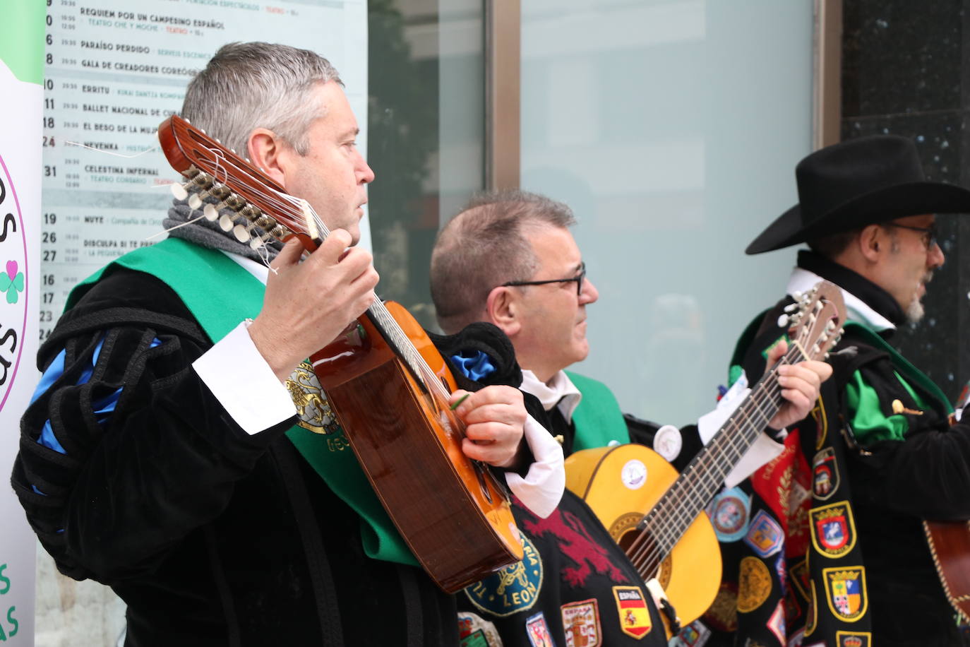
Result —
<svg viewBox="0 0 970 647"><path fill-rule="evenodd" d="M158 140L169 164L187 179L185 184L174 185L177 197L189 197L189 205L195 209L203 208L207 197L217 199L216 205L205 205L206 217L218 219L222 229L232 231L241 243L255 248L271 237L285 241L297 236L312 251L326 236L326 228L306 200L288 195L236 151L222 146L178 114L158 126ZM194 190L189 192L188 188ZM226 209L237 215L220 216L219 211ZM254 231L254 227L265 233Z"/></svg>

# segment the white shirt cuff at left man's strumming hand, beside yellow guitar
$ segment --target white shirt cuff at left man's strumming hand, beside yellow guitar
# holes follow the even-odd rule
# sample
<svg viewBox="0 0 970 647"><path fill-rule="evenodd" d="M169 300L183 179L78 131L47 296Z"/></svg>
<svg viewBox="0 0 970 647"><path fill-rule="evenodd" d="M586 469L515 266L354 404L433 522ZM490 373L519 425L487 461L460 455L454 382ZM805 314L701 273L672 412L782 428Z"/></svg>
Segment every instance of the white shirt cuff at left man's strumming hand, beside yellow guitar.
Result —
<svg viewBox="0 0 970 647"><path fill-rule="evenodd" d="M505 483L523 505L545 519L559 505L566 489L563 447L533 416L526 420L524 432L535 462L525 477L506 471Z"/></svg>

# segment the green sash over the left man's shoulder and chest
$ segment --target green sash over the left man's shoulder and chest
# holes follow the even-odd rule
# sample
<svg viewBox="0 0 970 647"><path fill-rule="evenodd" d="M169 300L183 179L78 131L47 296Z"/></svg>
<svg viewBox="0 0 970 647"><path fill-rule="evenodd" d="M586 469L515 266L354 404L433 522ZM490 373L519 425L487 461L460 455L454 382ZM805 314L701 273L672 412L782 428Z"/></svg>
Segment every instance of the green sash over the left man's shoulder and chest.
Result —
<svg viewBox="0 0 970 647"><path fill-rule="evenodd" d="M263 307L265 286L224 253L167 239L115 259L75 286L68 297L72 307L113 267L153 275L171 287L198 320L210 340L221 340L247 317ZM207 280L199 280L205 276ZM321 392L322 393L322 392ZM318 434L295 425L286 436L327 486L361 517L367 555L373 559L418 566L357 463L343 430Z"/></svg>

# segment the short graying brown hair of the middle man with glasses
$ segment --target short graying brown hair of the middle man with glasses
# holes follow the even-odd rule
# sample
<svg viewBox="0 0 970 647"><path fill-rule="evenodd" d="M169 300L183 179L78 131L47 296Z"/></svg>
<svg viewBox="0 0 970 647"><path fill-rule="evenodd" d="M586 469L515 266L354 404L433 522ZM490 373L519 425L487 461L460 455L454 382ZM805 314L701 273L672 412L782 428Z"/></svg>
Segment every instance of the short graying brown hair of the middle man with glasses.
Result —
<svg viewBox="0 0 970 647"><path fill-rule="evenodd" d="M530 228L566 229L576 218L566 205L528 191L475 195L438 233L431 256L431 297L438 324L455 333L481 320L493 288L528 280L538 269Z"/></svg>

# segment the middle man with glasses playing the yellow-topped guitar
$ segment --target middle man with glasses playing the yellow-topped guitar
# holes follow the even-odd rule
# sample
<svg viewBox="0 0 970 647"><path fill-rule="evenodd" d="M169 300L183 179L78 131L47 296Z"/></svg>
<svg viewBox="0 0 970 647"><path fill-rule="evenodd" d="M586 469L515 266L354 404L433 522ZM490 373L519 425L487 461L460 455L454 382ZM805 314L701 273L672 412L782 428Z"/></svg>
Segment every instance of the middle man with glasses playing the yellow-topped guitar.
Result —
<svg viewBox="0 0 970 647"><path fill-rule="evenodd" d="M589 353L586 307L598 299L569 233L574 222L566 205L533 193L477 196L441 230L432 252L431 288L438 322L459 340L469 336L469 330L489 324L501 329L522 368L520 388L537 398L545 412L533 415L545 417L566 455L632 439L653 445L667 460L690 458L700 447L694 426L682 437L672 426L658 428L625 419L604 384L565 371ZM480 340L470 352L461 350L451 357L453 362L469 376L489 379L492 370L488 358L482 357L487 353ZM786 367L783 385L791 402L771 424L782 428L807 414L827 372L820 362ZM508 646L544 644L537 637L543 635L557 645L665 644L642 578L585 503L566 492L560 507L544 522L518 506L513 505L513 511L527 541L527 555L534 548L541 559L469 587L464 597L459 596L460 608L474 615L468 622L494 622ZM649 607L650 621L625 625L618 617L625 601L617 591ZM646 633L649 640L640 641Z"/></svg>

